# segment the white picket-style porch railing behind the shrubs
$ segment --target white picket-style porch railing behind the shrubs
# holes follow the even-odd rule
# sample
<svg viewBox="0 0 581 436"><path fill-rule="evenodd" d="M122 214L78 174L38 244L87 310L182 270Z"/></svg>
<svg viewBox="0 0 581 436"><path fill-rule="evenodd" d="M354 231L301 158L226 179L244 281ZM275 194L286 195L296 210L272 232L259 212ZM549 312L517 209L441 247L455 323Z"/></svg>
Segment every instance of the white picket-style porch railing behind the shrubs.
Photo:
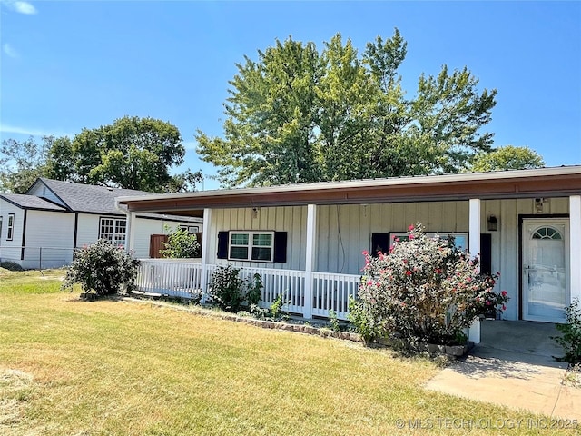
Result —
<svg viewBox="0 0 581 436"><path fill-rule="evenodd" d="M162 295L192 298L201 291L202 274L206 274L206 283L212 284L212 273L219 265L206 265L187 261L179 262L167 259L143 259L139 266L135 284L138 291L159 293ZM270 307L279 294L287 302L283 306L286 312L310 312L313 315L328 317L330 310L337 317L346 320L349 313L349 297L356 296L359 286L359 275L313 272L312 301L305 301L306 273L296 270L275 270L271 268L240 268L242 279L251 280L254 274L262 279L262 297L260 306ZM206 290L203 290L203 299ZM307 305L310 304L310 307ZM310 309L307 311L306 309Z"/></svg>

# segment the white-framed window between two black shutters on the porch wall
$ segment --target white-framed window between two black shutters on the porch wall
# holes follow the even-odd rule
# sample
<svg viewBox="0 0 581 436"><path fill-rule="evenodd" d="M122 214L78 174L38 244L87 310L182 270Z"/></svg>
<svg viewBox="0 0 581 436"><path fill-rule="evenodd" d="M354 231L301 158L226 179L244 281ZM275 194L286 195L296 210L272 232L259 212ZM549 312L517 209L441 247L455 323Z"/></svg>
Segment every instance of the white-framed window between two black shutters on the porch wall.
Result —
<svg viewBox="0 0 581 436"><path fill-rule="evenodd" d="M228 259L273 262L274 232L230 232Z"/></svg>

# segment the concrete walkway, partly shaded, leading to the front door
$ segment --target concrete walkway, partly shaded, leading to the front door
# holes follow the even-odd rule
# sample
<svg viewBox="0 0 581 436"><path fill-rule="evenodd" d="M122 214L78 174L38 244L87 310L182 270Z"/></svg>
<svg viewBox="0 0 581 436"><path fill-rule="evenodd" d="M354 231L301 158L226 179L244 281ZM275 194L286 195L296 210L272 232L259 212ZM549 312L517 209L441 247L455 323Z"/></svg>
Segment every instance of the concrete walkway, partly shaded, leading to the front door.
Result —
<svg viewBox="0 0 581 436"><path fill-rule="evenodd" d="M554 324L482 322L482 339L466 360L455 362L427 387L552 417L581 421L581 388L565 381L563 349L550 336ZM577 376L579 374L576 374Z"/></svg>

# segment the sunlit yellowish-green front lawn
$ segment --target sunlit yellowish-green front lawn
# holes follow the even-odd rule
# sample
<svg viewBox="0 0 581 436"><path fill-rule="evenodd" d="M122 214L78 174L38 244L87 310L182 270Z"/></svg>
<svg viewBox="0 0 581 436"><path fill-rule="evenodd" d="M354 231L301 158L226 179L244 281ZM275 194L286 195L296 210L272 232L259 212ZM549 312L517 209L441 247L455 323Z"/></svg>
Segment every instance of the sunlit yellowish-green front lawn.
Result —
<svg viewBox="0 0 581 436"><path fill-rule="evenodd" d="M12 274L0 275L3 435L464 434L396 420L535 417L424 390L438 372L425 360L152 303L80 302L54 278Z"/></svg>

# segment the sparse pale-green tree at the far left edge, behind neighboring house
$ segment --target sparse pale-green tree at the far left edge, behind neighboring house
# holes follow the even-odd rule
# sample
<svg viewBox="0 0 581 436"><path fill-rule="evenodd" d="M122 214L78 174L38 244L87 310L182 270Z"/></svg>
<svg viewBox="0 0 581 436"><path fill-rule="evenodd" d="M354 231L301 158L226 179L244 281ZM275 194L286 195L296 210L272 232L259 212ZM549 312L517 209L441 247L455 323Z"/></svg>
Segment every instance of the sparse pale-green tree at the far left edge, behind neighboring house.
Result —
<svg viewBox="0 0 581 436"><path fill-rule="evenodd" d="M25 193L38 177L48 177L48 153L60 138L43 136L37 144L33 136L25 141L5 139L0 146L0 192Z"/></svg>

